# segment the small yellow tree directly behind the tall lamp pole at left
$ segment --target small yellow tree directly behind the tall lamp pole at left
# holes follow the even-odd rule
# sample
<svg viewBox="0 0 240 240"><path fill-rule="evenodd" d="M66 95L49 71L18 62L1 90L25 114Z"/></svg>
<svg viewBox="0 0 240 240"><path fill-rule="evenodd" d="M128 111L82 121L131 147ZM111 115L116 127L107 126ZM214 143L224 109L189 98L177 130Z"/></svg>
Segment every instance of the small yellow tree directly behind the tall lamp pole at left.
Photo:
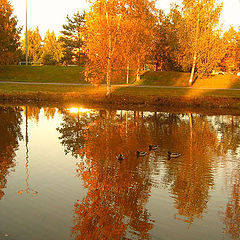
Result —
<svg viewBox="0 0 240 240"><path fill-rule="evenodd" d="M39 62L42 56L42 38L38 27L36 29L28 29L27 32L28 57L32 62ZM26 52L26 33L25 39L22 41L22 52Z"/></svg>

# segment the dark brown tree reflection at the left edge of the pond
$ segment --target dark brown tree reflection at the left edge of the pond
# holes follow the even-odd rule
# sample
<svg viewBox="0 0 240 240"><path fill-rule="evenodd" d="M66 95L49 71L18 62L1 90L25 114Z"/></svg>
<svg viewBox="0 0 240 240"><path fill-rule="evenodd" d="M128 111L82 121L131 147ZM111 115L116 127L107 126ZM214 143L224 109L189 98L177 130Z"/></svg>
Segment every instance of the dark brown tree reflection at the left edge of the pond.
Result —
<svg viewBox="0 0 240 240"><path fill-rule="evenodd" d="M15 151L18 141L22 139L20 124L22 122L21 108L0 107L0 199L6 187L7 175L15 166Z"/></svg>

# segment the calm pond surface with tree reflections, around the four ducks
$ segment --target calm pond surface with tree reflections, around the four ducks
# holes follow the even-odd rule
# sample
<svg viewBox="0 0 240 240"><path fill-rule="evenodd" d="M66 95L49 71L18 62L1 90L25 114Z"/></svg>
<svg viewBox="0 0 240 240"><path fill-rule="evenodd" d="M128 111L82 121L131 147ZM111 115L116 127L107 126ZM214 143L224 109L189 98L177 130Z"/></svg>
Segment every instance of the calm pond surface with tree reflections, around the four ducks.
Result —
<svg viewBox="0 0 240 240"><path fill-rule="evenodd" d="M239 239L239 120L1 105L0 239Z"/></svg>

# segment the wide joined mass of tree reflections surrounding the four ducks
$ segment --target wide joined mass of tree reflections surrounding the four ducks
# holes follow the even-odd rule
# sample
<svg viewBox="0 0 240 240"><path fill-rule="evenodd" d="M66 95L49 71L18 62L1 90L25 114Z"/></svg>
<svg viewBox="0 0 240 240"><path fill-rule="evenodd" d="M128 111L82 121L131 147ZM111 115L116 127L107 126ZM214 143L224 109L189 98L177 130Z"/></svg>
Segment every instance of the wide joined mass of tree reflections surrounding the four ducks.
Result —
<svg viewBox="0 0 240 240"><path fill-rule="evenodd" d="M78 174L88 189L86 198L75 204L73 237L124 239L130 229L147 239L153 225L144 204L156 185L153 175L159 174L159 164L164 164L162 181L175 199L176 219L191 224L201 218L214 186L216 156L232 149L226 144L223 151L221 144L229 139L235 151L239 146L237 126L236 134L229 127L220 132L222 121L216 119L130 111L66 113L60 139L66 153L81 156ZM136 150L146 151L149 144L158 144L159 150L137 159ZM167 151L183 157L168 160ZM119 153L127 156L122 163L116 160Z"/></svg>

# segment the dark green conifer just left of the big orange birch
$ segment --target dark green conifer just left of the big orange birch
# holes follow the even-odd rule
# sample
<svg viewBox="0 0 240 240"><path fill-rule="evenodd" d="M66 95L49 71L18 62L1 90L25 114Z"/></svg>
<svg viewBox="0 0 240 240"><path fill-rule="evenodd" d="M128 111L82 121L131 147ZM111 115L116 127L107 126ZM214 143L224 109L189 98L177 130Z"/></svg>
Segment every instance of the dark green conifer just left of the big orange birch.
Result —
<svg viewBox="0 0 240 240"><path fill-rule="evenodd" d="M60 41L63 42L64 56L62 61L67 64L81 65L86 60L86 55L83 52L84 18L85 13L77 12L72 17L67 16L67 23L62 26L62 36L60 37Z"/></svg>

